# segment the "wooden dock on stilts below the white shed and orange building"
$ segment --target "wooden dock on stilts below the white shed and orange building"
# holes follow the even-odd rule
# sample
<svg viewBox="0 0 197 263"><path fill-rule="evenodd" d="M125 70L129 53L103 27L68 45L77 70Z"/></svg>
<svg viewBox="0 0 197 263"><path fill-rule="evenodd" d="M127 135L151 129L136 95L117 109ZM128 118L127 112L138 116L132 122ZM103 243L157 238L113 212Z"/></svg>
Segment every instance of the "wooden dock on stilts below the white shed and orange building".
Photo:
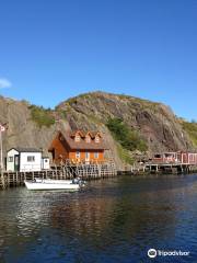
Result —
<svg viewBox="0 0 197 263"><path fill-rule="evenodd" d="M72 164L67 162L63 165L54 165L50 170L38 172L2 172L0 176L0 188L24 185L24 181L34 180L35 178L55 180L80 178L89 181L116 175L117 170L114 162L91 164Z"/></svg>

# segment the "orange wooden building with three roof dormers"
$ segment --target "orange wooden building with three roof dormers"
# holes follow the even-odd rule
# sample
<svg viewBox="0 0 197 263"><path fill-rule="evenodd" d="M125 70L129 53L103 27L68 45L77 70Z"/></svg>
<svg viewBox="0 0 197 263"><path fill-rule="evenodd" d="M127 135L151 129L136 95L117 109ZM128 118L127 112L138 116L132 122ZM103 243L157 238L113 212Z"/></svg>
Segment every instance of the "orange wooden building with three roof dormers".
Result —
<svg viewBox="0 0 197 263"><path fill-rule="evenodd" d="M66 134L59 132L48 151L57 164L66 160L90 163L104 161L105 149L100 132L76 130Z"/></svg>

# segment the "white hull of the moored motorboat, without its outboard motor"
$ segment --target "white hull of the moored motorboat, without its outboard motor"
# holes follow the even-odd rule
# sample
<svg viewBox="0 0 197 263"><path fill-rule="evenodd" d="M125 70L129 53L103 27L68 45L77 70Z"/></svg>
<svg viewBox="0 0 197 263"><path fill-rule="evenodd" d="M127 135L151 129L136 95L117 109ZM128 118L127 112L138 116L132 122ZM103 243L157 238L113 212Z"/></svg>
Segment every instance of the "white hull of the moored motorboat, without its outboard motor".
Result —
<svg viewBox="0 0 197 263"><path fill-rule="evenodd" d="M25 181L27 190L79 190L79 184L72 183L49 183L49 182L27 182Z"/></svg>

